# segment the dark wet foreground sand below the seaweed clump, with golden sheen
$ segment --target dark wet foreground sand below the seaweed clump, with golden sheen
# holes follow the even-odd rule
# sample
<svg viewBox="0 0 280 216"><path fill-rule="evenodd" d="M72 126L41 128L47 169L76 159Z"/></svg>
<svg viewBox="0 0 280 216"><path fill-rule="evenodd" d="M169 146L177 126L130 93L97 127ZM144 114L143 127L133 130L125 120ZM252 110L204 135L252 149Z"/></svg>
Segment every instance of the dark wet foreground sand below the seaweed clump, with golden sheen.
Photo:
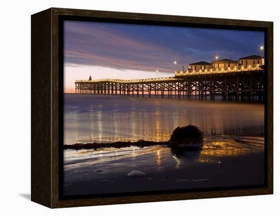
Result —
<svg viewBox="0 0 280 216"><path fill-rule="evenodd" d="M166 146L65 150L64 193L67 196L261 185L263 140L207 138L201 152L179 155ZM127 176L132 170L146 175Z"/></svg>

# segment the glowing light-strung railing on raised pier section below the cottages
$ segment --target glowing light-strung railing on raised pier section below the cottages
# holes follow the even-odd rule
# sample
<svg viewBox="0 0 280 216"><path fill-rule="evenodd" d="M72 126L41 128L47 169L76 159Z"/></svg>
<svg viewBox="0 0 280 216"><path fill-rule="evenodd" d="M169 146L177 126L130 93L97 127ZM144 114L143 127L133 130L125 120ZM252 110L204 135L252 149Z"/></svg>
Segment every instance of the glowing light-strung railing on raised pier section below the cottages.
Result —
<svg viewBox="0 0 280 216"><path fill-rule="evenodd" d="M175 77L180 76L191 76L191 75L204 75L204 74L222 74L231 72L242 72L251 70L261 70L261 64L252 65L242 65L235 67L225 67L225 68L211 68L211 69L200 69L200 70L181 70L175 71Z"/></svg>

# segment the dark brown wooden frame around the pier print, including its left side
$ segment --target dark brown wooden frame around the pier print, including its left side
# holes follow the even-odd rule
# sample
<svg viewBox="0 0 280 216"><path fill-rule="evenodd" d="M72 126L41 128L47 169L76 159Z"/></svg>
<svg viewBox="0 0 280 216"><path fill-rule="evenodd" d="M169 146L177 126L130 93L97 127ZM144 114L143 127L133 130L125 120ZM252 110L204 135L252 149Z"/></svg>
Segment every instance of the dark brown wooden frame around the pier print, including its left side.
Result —
<svg viewBox="0 0 280 216"><path fill-rule="evenodd" d="M63 62L60 25L63 18L92 18L117 20L124 23L147 23L170 26L208 26L222 29L262 29L265 32L266 99L265 99L265 168L266 185L262 188L236 190L191 191L132 196L61 199L60 197L60 74ZM32 148L31 200L50 208L203 199L231 196L264 195L273 193L273 22L205 17L186 17L157 14L122 13L78 9L50 8L31 16L32 24Z"/></svg>

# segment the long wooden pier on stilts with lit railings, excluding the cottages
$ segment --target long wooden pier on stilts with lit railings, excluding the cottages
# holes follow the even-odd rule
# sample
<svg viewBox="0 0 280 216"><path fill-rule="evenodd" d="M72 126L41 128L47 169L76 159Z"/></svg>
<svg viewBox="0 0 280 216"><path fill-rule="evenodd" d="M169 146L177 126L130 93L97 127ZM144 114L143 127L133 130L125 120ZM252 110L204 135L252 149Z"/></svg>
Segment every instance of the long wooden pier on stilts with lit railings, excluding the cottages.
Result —
<svg viewBox="0 0 280 216"><path fill-rule="evenodd" d="M264 65L175 71L175 77L77 80L75 93L264 101Z"/></svg>

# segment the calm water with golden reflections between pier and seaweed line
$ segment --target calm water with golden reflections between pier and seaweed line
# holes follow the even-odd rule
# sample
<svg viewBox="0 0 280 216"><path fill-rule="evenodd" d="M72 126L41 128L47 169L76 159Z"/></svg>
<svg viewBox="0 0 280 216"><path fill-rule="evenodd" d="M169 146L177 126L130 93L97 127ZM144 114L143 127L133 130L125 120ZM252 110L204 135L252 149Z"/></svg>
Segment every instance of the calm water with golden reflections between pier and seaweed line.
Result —
<svg viewBox="0 0 280 216"><path fill-rule="evenodd" d="M64 142L163 141L195 124L211 135L263 136L264 105L176 98L65 94Z"/></svg>

